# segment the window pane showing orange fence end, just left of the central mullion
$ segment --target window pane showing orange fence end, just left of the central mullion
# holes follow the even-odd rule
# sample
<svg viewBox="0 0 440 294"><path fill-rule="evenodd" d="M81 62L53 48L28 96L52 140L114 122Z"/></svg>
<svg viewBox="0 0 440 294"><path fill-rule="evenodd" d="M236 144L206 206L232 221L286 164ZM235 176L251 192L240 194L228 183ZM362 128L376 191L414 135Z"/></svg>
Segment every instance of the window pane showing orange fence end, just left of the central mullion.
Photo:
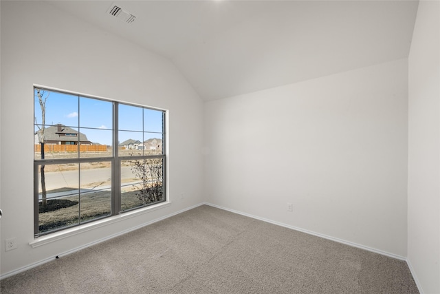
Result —
<svg viewBox="0 0 440 294"><path fill-rule="evenodd" d="M111 149L113 132L111 129L81 128L80 131L81 136L87 138L87 141L83 140L80 144L81 158L113 156Z"/></svg>

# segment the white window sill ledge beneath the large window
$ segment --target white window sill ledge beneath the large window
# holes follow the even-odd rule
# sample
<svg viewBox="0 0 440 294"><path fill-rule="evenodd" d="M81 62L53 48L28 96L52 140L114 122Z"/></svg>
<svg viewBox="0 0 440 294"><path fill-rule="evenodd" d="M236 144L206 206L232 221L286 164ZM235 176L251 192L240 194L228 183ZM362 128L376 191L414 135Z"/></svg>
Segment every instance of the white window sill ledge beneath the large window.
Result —
<svg viewBox="0 0 440 294"><path fill-rule="evenodd" d="M64 238L69 238L73 235L77 235L80 233L84 233L86 231L91 231L94 229L98 229L100 227L105 227L115 222L121 222L123 220L134 218L136 216L141 216L144 213L148 213L151 211L155 211L157 209L163 209L171 205L170 201L162 202L152 207L145 207L144 209L136 209L134 211L129 211L126 213L122 213L118 216L111 216L110 218L104 218L102 220L97 220L96 222L89 222L88 224L83 224L78 227L74 227L72 229L65 229L63 231L59 231L56 233L52 233L50 235L43 235L39 238L35 238L34 241L30 242L30 246L32 248L36 248L45 244L50 244L52 242L56 242L58 240L62 240ZM143 226L143 225L142 225Z"/></svg>

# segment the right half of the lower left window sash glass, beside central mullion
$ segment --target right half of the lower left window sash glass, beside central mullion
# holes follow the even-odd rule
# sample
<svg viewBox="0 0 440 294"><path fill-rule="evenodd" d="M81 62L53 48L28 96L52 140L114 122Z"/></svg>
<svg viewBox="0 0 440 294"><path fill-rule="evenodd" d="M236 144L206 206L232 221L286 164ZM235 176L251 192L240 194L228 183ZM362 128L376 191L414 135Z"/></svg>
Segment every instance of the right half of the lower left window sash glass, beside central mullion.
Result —
<svg viewBox="0 0 440 294"><path fill-rule="evenodd" d="M80 216L87 222L111 214L111 162L80 164Z"/></svg>

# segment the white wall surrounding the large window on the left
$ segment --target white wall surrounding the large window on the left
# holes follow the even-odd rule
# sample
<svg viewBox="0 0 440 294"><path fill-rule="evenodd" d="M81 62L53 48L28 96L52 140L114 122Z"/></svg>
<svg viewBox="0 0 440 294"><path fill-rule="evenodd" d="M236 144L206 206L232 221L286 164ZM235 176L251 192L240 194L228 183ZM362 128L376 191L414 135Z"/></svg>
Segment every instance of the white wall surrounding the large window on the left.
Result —
<svg viewBox="0 0 440 294"><path fill-rule="evenodd" d="M34 83L168 109L173 203L32 249ZM50 4L1 1L1 275L201 203L202 123L203 102L166 59ZM5 252L10 237L18 248Z"/></svg>

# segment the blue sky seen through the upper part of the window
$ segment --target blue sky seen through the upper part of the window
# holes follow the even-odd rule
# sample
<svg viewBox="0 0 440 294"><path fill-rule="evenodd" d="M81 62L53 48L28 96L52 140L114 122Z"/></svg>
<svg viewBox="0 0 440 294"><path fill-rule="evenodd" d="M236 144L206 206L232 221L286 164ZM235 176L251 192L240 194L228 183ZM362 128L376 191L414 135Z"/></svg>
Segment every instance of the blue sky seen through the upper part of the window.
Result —
<svg viewBox="0 0 440 294"><path fill-rule="evenodd" d="M111 145L113 127L113 103L94 98L45 91L45 125L61 123L87 136L93 143ZM41 107L34 93L34 116L41 125ZM162 112L132 105L119 105L119 141L162 138ZM35 131L38 127L35 127Z"/></svg>

